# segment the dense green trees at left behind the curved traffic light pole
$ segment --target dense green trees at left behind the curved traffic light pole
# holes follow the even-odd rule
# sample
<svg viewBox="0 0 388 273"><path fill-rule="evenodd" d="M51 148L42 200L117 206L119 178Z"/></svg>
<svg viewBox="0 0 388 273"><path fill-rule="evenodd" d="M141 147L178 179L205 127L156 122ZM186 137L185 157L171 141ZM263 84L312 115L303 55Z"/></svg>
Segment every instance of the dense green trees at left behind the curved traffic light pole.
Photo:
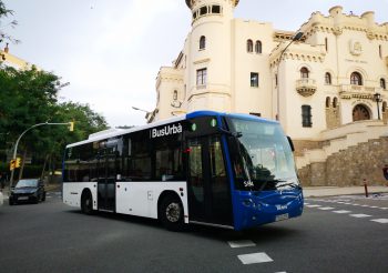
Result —
<svg viewBox="0 0 388 273"><path fill-rule="evenodd" d="M59 165L64 145L88 138L108 128L105 119L88 104L58 102L61 88L59 77L32 67L29 70L0 68L0 159L11 150L19 135L38 123L68 123L74 121L74 131L68 125L42 125L29 131L19 143L18 153L32 153L33 161Z"/></svg>

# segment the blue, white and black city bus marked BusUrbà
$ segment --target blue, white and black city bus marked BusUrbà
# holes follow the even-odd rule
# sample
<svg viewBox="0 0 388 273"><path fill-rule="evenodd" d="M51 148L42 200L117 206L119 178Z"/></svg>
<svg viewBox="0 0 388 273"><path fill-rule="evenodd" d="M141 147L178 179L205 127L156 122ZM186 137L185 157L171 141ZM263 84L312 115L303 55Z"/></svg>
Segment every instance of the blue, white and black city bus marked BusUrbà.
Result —
<svg viewBox="0 0 388 273"><path fill-rule="evenodd" d="M293 142L277 121L196 111L69 144L63 202L185 224L252 229L302 215Z"/></svg>

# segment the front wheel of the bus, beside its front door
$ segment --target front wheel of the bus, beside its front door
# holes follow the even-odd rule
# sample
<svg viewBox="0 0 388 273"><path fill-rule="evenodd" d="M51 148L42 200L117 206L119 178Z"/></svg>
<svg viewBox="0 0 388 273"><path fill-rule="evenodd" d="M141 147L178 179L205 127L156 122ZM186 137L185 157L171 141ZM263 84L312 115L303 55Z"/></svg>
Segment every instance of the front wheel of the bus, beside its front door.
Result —
<svg viewBox="0 0 388 273"><path fill-rule="evenodd" d="M159 219L169 231L183 230L183 205L178 198L174 195L165 196L159 208Z"/></svg>

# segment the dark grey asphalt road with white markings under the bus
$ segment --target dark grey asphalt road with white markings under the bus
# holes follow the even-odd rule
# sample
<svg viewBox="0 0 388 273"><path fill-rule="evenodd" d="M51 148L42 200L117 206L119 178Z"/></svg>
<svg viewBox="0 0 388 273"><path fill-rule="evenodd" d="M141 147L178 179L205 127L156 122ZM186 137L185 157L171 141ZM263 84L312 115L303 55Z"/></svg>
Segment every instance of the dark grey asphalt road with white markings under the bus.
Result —
<svg viewBox="0 0 388 273"><path fill-rule="evenodd" d="M154 220L83 215L50 193L0 208L0 272L386 273L388 196L308 199L302 218L245 232L169 232Z"/></svg>

